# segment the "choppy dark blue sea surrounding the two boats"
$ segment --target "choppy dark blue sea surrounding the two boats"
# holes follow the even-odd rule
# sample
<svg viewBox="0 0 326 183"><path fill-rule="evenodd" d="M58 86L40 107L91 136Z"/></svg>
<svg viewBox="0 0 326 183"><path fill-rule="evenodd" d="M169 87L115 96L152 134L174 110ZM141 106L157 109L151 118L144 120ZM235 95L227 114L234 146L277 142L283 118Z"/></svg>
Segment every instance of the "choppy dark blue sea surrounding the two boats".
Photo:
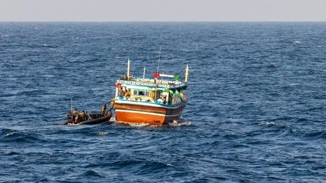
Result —
<svg viewBox="0 0 326 183"><path fill-rule="evenodd" d="M160 49L181 119L60 125ZM0 68L0 182L326 182L326 22L0 22Z"/></svg>

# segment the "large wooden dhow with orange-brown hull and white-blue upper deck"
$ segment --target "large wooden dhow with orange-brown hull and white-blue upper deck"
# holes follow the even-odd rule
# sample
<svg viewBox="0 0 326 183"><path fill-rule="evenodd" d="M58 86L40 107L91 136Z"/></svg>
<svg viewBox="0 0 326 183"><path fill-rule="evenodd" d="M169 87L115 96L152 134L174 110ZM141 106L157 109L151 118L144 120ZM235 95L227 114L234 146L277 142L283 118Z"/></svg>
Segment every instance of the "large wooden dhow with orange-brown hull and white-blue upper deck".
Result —
<svg viewBox="0 0 326 183"><path fill-rule="evenodd" d="M172 123L182 115L188 101L186 96L188 64L185 81L179 81L178 75L166 75L156 72L153 78L136 78L127 75L116 82L116 96L111 105L115 108L116 120L127 123L148 123L163 125Z"/></svg>

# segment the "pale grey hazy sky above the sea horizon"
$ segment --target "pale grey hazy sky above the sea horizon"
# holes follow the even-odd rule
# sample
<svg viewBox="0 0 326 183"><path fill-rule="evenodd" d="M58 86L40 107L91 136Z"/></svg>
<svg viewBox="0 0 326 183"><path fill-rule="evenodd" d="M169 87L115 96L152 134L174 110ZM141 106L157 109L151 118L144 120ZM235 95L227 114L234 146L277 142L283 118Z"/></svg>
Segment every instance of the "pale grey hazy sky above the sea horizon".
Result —
<svg viewBox="0 0 326 183"><path fill-rule="evenodd" d="M326 0L0 0L0 21L326 21Z"/></svg>

